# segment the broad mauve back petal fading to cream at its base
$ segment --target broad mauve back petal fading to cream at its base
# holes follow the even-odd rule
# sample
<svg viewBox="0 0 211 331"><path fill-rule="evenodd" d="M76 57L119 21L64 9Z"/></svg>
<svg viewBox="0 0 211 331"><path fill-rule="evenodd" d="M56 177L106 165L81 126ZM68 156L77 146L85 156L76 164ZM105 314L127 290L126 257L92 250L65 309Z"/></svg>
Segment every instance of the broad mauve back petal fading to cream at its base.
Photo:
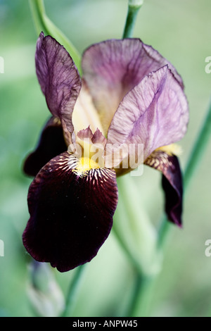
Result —
<svg viewBox="0 0 211 331"><path fill-rule="evenodd" d="M166 64L183 87L174 66L140 39L107 40L84 51L84 79L101 116L104 132L107 132L123 96L145 75Z"/></svg>

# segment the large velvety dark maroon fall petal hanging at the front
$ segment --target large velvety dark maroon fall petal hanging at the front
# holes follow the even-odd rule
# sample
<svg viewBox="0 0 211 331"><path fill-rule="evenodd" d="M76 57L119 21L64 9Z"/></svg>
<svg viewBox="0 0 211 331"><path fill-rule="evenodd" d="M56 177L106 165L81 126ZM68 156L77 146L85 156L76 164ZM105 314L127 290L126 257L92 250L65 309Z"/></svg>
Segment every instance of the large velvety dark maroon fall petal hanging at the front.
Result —
<svg viewBox="0 0 211 331"><path fill-rule="evenodd" d="M30 186L30 220L23 243L32 257L60 272L91 261L110 233L117 206L115 171L74 171L75 156L65 152L40 170Z"/></svg>

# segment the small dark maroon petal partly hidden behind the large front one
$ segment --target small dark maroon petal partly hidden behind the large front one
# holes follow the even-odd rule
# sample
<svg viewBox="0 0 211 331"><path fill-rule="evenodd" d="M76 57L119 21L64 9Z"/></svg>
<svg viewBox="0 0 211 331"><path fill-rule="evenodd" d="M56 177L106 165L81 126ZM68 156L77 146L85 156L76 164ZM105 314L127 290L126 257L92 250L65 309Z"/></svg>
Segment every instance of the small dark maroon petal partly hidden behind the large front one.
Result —
<svg viewBox="0 0 211 331"><path fill-rule="evenodd" d="M26 175L35 177L51 158L67 151L67 149L60 120L51 117L41 132L36 149L27 156L23 171Z"/></svg>

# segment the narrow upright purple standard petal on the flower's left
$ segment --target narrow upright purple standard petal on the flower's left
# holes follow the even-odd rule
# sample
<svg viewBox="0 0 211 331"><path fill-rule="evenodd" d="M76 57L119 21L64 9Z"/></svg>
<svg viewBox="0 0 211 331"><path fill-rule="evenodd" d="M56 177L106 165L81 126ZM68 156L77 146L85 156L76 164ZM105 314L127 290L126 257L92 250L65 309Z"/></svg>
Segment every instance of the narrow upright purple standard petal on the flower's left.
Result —
<svg viewBox="0 0 211 331"><path fill-rule="evenodd" d="M79 73L72 58L56 39L44 37L41 32L37 40L35 63L49 110L60 118L63 130L72 133L72 111L81 89Z"/></svg>

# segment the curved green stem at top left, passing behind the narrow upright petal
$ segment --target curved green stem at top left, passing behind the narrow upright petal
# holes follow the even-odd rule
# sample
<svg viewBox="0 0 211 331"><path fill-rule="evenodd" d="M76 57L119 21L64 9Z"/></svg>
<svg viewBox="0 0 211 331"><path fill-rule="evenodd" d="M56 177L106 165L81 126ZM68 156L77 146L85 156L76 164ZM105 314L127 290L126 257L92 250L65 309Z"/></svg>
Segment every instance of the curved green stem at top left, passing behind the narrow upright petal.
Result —
<svg viewBox="0 0 211 331"><path fill-rule="evenodd" d="M65 35L63 35L63 32L61 32L58 27L56 27L56 25L54 25L48 18L44 8L44 1L30 0L30 8L37 35L43 31L45 35L51 35L60 44L62 44L72 57L72 60L79 70L79 74L82 75L81 56L79 55L77 49L75 49L75 46L72 45L70 40Z"/></svg>

